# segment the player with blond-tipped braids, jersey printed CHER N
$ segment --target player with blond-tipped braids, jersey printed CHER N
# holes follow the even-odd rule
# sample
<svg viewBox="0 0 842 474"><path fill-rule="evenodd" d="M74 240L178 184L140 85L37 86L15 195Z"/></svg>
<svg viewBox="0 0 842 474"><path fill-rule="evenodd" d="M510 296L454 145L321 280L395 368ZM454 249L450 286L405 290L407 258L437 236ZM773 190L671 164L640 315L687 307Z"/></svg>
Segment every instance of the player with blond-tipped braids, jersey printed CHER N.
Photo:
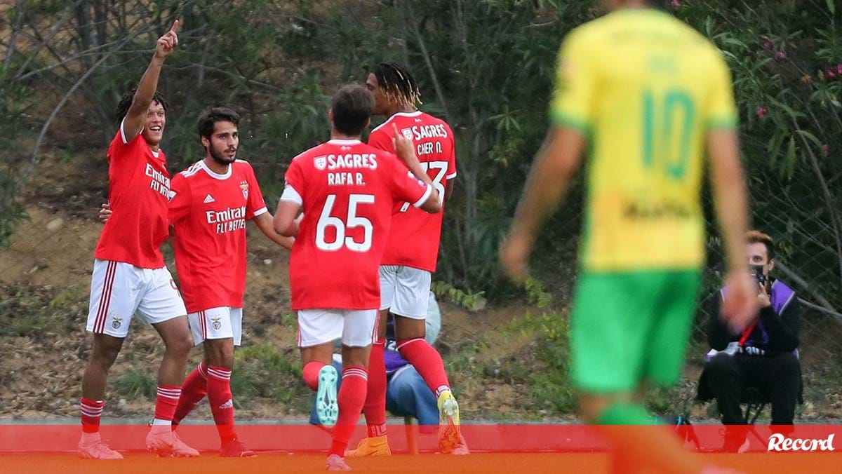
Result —
<svg viewBox="0 0 842 474"><path fill-rule="evenodd" d="M396 63L377 65L365 82L375 98L375 115L386 115L382 125L371 130L369 145L394 152L392 128L413 142L424 173L446 199L456 178L456 144L453 130L444 120L418 110L420 92L412 75ZM438 397L439 446L445 453L468 454L459 430L459 405L450 391L441 355L424 339L430 276L439 257L442 214L429 215L409 203L397 205L392 230L380 268L380 327L371 349L369 391L365 400L368 437L349 456L390 455L386 440L386 319L395 315L397 349L424 377Z"/></svg>

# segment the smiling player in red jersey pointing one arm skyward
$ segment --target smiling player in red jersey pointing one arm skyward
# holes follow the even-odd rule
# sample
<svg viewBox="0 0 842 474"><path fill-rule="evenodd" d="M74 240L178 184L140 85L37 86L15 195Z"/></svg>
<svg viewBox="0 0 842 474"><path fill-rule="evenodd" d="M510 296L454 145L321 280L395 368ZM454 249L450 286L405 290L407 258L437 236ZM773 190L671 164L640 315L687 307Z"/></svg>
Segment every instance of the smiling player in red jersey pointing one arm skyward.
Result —
<svg viewBox="0 0 842 474"><path fill-rule="evenodd" d="M105 224L94 253L87 324L93 333L93 350L82 381L83 434L78 447L84 458L122 457L100 438L99 419L109 369L134 314L151 323L167 347L158 371L155 419L147 448L159 455L199 454L170 429L191 344L184 301L159 248L168 235L170 182L167 158L159 148L167 103L156 89L164 60L179 44L178 27L176 21L157 40L136 91L120 101L120 130L108 150L109 203L115 216Z"/></svg>

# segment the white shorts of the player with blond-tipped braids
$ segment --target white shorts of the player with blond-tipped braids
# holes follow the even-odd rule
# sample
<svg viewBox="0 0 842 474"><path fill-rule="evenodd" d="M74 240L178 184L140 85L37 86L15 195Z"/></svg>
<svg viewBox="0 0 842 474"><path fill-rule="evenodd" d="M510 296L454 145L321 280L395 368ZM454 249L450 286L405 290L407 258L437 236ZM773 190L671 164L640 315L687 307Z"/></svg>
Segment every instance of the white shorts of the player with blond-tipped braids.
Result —
<svg viewBox="0 0 842 474"><path fill-rule="evenodd" d="M397 316L424 319L429 306L430 274L403 265L380 266L380 309Z"/></svg>

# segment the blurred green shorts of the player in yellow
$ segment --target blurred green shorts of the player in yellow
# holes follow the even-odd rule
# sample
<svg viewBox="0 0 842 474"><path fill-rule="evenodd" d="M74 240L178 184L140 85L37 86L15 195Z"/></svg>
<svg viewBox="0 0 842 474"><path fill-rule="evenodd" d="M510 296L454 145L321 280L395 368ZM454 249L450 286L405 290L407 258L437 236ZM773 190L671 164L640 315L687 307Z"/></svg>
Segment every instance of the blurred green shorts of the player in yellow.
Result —
<svg viewBox="0 0 842 474"><path fill-rule="evenodd" d="M618 393L642 381L678 381L700 274L584 270L571 322L573 384L581 391Z"/></svg>

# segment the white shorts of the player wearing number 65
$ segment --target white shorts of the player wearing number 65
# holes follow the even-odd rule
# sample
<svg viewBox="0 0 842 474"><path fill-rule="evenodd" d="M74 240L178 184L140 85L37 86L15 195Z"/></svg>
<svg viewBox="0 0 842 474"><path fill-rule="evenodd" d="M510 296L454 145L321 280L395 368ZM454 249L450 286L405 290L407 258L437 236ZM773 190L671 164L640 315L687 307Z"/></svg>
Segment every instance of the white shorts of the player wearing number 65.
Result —
<svg viewBox="0 0 842 474"><path fill-rule="evenodd" d="M299 310L298 347L312 347L342 338L348 347L374 342L377 310Z"/></svg>

